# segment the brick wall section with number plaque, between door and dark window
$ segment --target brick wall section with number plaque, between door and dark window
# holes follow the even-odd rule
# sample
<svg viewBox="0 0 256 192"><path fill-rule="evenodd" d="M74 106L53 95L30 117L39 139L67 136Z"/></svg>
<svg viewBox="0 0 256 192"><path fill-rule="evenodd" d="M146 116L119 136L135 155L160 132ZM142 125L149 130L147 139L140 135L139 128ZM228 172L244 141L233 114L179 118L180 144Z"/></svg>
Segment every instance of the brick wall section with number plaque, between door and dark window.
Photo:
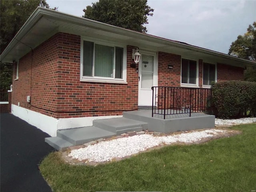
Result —
<svg viewBox="0 0 256 192"><path fill-rule="evenodd" d="M173 69L168 69L168 64ZM158 52L158 86L180 86L181 56Z"/></svg>

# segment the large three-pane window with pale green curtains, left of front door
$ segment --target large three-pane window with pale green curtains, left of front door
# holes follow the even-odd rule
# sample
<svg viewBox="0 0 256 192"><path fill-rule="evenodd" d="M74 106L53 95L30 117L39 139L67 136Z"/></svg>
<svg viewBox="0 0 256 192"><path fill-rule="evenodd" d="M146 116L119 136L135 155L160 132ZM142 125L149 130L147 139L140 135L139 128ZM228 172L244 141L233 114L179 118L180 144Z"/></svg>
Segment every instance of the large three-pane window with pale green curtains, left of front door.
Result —
<svg viewBox="0 0 256 192"><path fill-rule="evenodd" d="M126 48L124 46L83 40L81 50L82 80L97 82L126 80Z"/></svg>

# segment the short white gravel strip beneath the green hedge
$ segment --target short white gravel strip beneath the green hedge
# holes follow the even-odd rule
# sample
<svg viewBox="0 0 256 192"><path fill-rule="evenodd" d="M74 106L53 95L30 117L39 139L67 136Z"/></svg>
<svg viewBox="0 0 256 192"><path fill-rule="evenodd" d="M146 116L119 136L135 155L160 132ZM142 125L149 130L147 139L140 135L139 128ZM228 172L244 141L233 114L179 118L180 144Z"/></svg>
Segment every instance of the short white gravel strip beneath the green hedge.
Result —
<svg viewBox="0 0 256 192"><path fill-rule="evenodd" d="M256 117L254 118L240 118L240 119L215 119L215 126L231 126L238 124L247 124L256 122Z"/></svg>

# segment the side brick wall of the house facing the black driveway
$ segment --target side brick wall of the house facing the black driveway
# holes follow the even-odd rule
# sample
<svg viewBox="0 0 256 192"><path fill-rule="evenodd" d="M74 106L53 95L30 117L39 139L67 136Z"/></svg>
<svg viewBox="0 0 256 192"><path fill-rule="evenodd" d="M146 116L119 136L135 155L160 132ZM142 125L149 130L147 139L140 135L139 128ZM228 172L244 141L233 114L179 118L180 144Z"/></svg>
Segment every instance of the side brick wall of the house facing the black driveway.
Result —
<svg viewBox="0 0 256 192"><path fill-rule="evenodd" d="M12 104L56 117L58 35L52 36L14 65ZM27 102L30 96L30 103Z"/></svg>

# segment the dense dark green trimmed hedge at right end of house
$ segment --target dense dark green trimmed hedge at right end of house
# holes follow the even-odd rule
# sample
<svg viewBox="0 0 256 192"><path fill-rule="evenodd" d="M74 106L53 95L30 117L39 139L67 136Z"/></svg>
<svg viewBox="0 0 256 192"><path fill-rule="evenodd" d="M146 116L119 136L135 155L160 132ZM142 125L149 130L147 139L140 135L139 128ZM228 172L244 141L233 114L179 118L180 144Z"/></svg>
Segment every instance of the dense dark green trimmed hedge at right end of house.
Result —
<svg viewBox="0 0 256 192"><path fill-rule="evenodd" d="M246 111L250 111L250 116L255 116L256 82L226 81L213 84L212 100L219 118L236 118Z"/></svg>

